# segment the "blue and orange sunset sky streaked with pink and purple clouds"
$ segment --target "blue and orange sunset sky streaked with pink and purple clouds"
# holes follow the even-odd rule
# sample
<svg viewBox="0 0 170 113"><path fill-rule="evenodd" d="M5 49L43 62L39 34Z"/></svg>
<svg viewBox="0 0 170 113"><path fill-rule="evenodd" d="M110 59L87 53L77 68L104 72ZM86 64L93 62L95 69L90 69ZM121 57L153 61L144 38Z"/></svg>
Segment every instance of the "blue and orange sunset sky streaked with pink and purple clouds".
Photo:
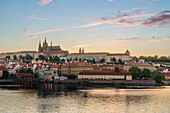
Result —
<svg viewBox="0 0 170 113"><path fill-rule="evenodd" d="M0 53L37 51L170 55L170 0L0 0Z"/></svg>

